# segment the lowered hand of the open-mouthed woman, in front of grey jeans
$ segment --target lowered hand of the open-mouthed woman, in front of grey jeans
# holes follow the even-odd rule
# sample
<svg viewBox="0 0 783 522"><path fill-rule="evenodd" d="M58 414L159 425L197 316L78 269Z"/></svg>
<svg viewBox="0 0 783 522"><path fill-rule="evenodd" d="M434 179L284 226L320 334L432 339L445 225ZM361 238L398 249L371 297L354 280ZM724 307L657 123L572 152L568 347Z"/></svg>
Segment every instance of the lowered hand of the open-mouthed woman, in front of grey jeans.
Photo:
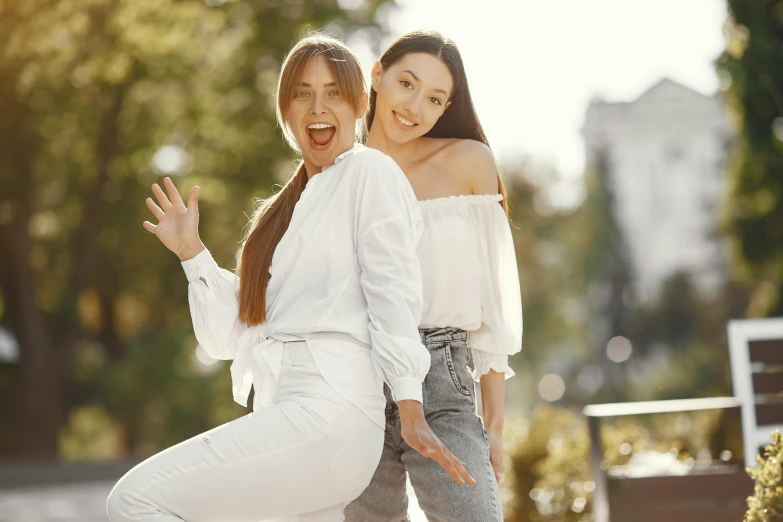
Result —
<svg viewBox="0 0 783 522"><path fill-rule="evenodd" d="M457 484L476 485L476 481L465 469L465 463L443 445L433 433L424 418L424 409L419 401L403 400L397 402L402 424L402 438L408 445L441 465Z"/></svg>

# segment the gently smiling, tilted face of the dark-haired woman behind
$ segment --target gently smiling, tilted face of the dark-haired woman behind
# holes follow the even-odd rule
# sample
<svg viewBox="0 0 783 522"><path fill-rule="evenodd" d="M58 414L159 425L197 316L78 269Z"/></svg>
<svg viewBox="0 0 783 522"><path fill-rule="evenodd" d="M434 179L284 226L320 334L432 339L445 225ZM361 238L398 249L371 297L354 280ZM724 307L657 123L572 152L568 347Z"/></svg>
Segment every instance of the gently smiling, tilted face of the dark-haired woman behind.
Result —
<svg viewBox="0 0 783 522"><path fill-rule="evenodd" d="M396 143L407 143L432 129L451 103L454 82L443 61L429 53L409 53L382 70L373 67L377 92L373 126Z"/></svg>

